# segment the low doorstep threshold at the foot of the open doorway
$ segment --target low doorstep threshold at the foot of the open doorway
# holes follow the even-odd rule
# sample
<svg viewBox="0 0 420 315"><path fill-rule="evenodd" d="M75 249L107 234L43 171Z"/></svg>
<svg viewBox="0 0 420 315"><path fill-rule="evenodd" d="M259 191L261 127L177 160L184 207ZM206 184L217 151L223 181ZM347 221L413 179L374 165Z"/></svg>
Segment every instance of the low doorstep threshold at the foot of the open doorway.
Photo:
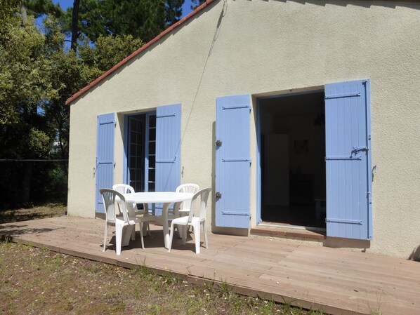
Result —
<svg viewBox="0 0 420 315"><path fill-rule="evenodd" d="M320 227L301 227L275 222L260 222L256 227L252 227L249 233L257 236L273 236L304 241L323 241L326 236L325 229Z"/></svg>

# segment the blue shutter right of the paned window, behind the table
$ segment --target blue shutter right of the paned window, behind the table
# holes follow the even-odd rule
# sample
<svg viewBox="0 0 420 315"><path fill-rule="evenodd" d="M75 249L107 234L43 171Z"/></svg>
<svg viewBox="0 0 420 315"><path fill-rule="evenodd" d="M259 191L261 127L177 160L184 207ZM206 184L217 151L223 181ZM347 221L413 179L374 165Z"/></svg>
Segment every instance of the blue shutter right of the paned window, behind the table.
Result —
<svg viewBox="0 0 420 315"><path fill-rule="evenodd" d="M181 104L156 109L156 191L175 192L181 176ZM162 205L155 213L161 214Z"/></svg>

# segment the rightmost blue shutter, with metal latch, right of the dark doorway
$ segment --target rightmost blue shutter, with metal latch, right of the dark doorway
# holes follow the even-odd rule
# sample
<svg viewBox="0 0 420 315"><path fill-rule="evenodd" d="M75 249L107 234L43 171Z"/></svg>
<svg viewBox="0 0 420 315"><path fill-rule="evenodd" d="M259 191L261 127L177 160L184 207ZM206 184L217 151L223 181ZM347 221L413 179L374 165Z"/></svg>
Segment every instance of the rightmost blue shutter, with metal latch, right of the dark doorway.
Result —
<svg viewBox="0 0 420 315"><path fill-rule="evenodd" d="M327 236L372 239L369 80L325 86Z"/></svg>

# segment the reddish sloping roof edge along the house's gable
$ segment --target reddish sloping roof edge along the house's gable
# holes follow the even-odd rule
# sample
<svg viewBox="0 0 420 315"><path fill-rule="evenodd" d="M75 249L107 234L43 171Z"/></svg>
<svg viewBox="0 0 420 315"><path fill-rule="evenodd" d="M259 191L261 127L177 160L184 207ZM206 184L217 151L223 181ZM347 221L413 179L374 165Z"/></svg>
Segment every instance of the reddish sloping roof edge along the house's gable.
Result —
<svg viewBox="0 0 420 315"><path fill-rule="evenodd" d="M110 74L112 74L113 72L115 72L117 69L119 69L120 67L122 67L123 65L125 65L131 59L133 59L134 57L136 57L136 55L138 55L139 53L145 51L146 48L149 48L150 46L152 46L153 43L159 41L159 39L161 39L163 36L165 36L166 34L169 34L170 32L172 32L173 29L176 29L176 27L178 27L179 25L183 24L183 22L185 22L186 20L189 20L190 18L192 18L192 16L196 15L197 13L199 13L199 11L202 11L202 9L204 9L206 6L208 6L209 4L211 4L212 2L215 2L215 1L218 1L218 0L206 0L206 2L204 2L204 4L202 4L201 6L197 7L194 11L192 11L191 13L189 13L188 15L186 15L184 18L182 18L181 20L179 20L175 24L173 24L170 27L168 27L167 29L165 29L162 33L160 33L159 35L157 35L151 41L145 43L143 46L141 46L140 48L138 48L137 51L134 51L133 53L131 53L131 55L127 56L126 58L124 58L123 60L121 60L120 62L118 62L117 65L114 65L114 67L112 67L111 69L109 69L107 72L105 72L104 74L98 76L98 78L96 78L95 80L93 80L91 83L89 83L84 88L81 88L81 90L79 90L77 93L74 93L70 98L68 98L65 101L65 105L70 105L71 102L73 102L74 100L76 100L77 98L79 98L81 95L84 95L84 93L86 93L88 90L90 90L91 88L93 88L93 86L96 86L96 84L98 84L100 81L102 81L103 79L105 79L107 76L109 76Z"/></svg>

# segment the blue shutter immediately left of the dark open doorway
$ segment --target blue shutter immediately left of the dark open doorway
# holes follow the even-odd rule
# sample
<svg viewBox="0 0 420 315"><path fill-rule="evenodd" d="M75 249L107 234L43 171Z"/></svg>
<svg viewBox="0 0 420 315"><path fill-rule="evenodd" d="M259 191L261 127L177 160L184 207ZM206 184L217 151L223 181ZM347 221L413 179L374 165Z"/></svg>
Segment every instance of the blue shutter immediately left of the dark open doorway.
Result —
<svg viewBox="0 0 420 315"><path fill-rule="evenodd" d="M216 100L216 226L249 227L249 95Z"/></svg>

